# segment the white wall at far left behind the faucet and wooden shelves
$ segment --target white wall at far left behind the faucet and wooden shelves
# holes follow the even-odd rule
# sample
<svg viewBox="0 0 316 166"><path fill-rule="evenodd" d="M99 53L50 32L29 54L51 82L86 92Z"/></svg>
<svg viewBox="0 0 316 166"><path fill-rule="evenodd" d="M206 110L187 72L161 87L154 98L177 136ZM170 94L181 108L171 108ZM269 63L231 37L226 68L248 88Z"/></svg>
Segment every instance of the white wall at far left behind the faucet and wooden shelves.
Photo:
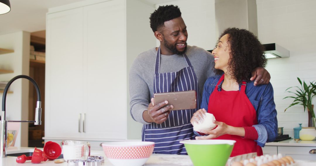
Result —
<svg viewBox="0 0 316 166"><path fill-rule="evenodd" d="M1 74L0 80L9 81L17 75L29 74L29 50L30 33L15 32L0 36L0 47L12 49L14 53L0 55L0 69L13 70L14 73ZM28 85L25 79L15 80L11 86L12 94L6 98L6 120L30 120L28 119ZM2 95L0 106L2 108ZM33 120L33 119L32 119ZM15 146L28 145L28 124L20 123L21 128L15 141Z"/></svg>

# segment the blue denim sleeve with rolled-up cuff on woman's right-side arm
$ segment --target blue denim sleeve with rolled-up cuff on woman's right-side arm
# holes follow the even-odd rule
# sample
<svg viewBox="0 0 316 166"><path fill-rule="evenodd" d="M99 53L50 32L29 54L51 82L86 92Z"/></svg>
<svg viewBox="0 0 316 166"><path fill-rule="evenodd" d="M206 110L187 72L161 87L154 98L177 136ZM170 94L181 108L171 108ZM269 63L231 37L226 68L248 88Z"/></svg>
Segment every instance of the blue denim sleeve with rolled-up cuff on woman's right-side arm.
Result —
<svg viewBox="0 0 316 166"><path fill-rule="evenodd" d="M264 147L266 142L272 142L277 136L276 108L273 99L271 83L265 86L257 111L258 124L253 125L258 132L257 144Z"/></svg>

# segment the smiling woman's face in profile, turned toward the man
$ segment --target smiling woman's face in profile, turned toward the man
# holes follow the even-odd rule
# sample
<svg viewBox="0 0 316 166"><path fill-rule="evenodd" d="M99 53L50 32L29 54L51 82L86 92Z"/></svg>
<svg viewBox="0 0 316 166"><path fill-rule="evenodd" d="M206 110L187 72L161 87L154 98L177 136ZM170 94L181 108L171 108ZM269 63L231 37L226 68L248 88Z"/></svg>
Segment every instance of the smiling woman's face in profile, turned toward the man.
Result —
<svg viewBox="0 0 316 166"><path fill-rule="evenodd" d="M217 43L216 48L212 51L214 55L215 69L223 70L224 73L228 71L228 62L230 59L230 46L228 43L228 34L221 37Z"/></svg>

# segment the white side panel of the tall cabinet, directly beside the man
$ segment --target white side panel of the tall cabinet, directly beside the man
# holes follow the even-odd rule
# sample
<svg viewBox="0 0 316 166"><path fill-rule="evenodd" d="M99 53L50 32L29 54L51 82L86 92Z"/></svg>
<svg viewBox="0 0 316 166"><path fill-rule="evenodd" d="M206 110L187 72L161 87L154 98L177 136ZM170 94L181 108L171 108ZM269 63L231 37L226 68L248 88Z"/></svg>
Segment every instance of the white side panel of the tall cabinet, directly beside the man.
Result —
<svg viewBox="0 0 316 166"><path fill-rule="evenodd" d="M135 10L137 9L137 10ZM155 10L154 5L138 0L126 1L126 42L127 42L127 138L141 139L141 123L136 122L130 115L129 72L138 54L155 47L155 36L149 25L149 16ZM142 27L142 28L140 28ZM145 28L144 28L145 27ZM136 40L140 42L135 42ZM146 41L146 42L141 42Z"/></svg>

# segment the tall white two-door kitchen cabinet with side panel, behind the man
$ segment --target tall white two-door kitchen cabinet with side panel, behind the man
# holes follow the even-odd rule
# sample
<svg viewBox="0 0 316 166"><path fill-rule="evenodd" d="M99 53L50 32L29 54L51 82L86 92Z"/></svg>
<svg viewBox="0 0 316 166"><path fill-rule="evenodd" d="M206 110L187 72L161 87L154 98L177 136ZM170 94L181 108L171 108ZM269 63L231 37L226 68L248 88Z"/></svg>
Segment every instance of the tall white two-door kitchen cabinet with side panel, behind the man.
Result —
<svg viewBox="0 0 316 166"><path fill-rule="evenodd" d="M137 0L89 0L49 10L45 140L141 137L141 124L130 120L128 74L134 58L155 47L148 19L153 10Z"/></svg>

